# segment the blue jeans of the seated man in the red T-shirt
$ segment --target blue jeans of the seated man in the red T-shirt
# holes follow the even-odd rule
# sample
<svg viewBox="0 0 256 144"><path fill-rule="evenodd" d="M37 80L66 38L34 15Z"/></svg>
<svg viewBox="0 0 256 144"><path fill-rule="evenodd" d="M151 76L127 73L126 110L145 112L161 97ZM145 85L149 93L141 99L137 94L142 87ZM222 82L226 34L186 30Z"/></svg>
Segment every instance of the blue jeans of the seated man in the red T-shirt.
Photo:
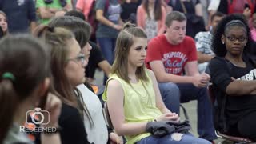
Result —
<svg viewBox="0 0 256 144"><path fill-rule="evenodd" d="M162 100L166 107L179 114L179 104L198 100L198 135L207 140L216 139L213 122L213 111L206 87L196 87L190 83L175 84L172 82L158 83Z"/></svg>

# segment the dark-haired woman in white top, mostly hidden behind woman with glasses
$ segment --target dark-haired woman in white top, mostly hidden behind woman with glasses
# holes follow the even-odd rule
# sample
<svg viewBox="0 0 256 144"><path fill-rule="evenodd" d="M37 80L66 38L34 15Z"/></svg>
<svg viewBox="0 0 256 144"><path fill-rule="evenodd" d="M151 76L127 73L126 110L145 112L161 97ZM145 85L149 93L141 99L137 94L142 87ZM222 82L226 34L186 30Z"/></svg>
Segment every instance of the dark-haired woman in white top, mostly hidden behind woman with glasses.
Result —
<svg viewBox="0 0 256 144"><path fill-rule="evenodd" d="M53 18L49 22L49 26L65 27L71 30L74 37L81 46L82 53L86 56L86 61L89 60L91 46L89 44L90 38L90 25L79 18L64 16ZM82 58L82 57L80 57ZM102 104L96 94L90 91L84 84L76 86L78 98L84 102L84 125L86 127L87 138L89 142L94 144L106 144L107 142L122 143L122 140L113 130L108 129L104 116L102 114Z"/></svg>

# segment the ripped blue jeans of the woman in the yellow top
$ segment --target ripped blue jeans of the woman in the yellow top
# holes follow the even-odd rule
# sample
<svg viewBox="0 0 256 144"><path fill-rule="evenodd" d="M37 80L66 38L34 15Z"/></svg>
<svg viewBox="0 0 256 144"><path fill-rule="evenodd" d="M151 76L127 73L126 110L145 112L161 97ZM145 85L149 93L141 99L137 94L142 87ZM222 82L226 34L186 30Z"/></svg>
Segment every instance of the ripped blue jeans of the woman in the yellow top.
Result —
<svg viewBox="0 0 256 144"><path fill-rule="evenodd" d="M181 141L175 141L171 138L171 134L168 134L162 138L154 138L153 136L142 138L136 144L210 144L210 142L186 133L182 136Z"/></svg>

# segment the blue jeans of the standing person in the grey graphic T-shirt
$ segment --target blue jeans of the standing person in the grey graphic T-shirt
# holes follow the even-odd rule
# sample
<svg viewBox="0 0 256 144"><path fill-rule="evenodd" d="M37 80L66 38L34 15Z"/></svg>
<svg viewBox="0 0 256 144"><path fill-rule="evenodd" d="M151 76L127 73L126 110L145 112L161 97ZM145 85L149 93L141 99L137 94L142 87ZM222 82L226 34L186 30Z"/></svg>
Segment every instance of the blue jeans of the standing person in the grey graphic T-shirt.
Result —
<svg viewBox="0 0 256 144"><path fill-rule="evenodd" d="M116 38L97 38L97 42L102 50L102 54L106 58L106 61L110 63L110 65L114 62L114 48ZM106 74L104 74L103 84L105 85L107 81Z"/></svg>

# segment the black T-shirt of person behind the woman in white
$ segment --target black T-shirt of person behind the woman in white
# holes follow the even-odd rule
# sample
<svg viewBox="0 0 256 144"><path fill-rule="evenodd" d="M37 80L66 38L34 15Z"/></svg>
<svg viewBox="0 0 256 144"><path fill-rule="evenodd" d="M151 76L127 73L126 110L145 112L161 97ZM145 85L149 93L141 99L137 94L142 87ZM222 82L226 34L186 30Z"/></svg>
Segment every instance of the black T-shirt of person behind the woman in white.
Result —
<svg viewBox="0 0 256 144"><path fill-rule="evenodd" d="M98 67L98 63L106 60L102 54L102 51L94 42L89 42L92 49L90 50L90 57L88 65L86 66L86 77L94 78L94 73Z"/></svg>

